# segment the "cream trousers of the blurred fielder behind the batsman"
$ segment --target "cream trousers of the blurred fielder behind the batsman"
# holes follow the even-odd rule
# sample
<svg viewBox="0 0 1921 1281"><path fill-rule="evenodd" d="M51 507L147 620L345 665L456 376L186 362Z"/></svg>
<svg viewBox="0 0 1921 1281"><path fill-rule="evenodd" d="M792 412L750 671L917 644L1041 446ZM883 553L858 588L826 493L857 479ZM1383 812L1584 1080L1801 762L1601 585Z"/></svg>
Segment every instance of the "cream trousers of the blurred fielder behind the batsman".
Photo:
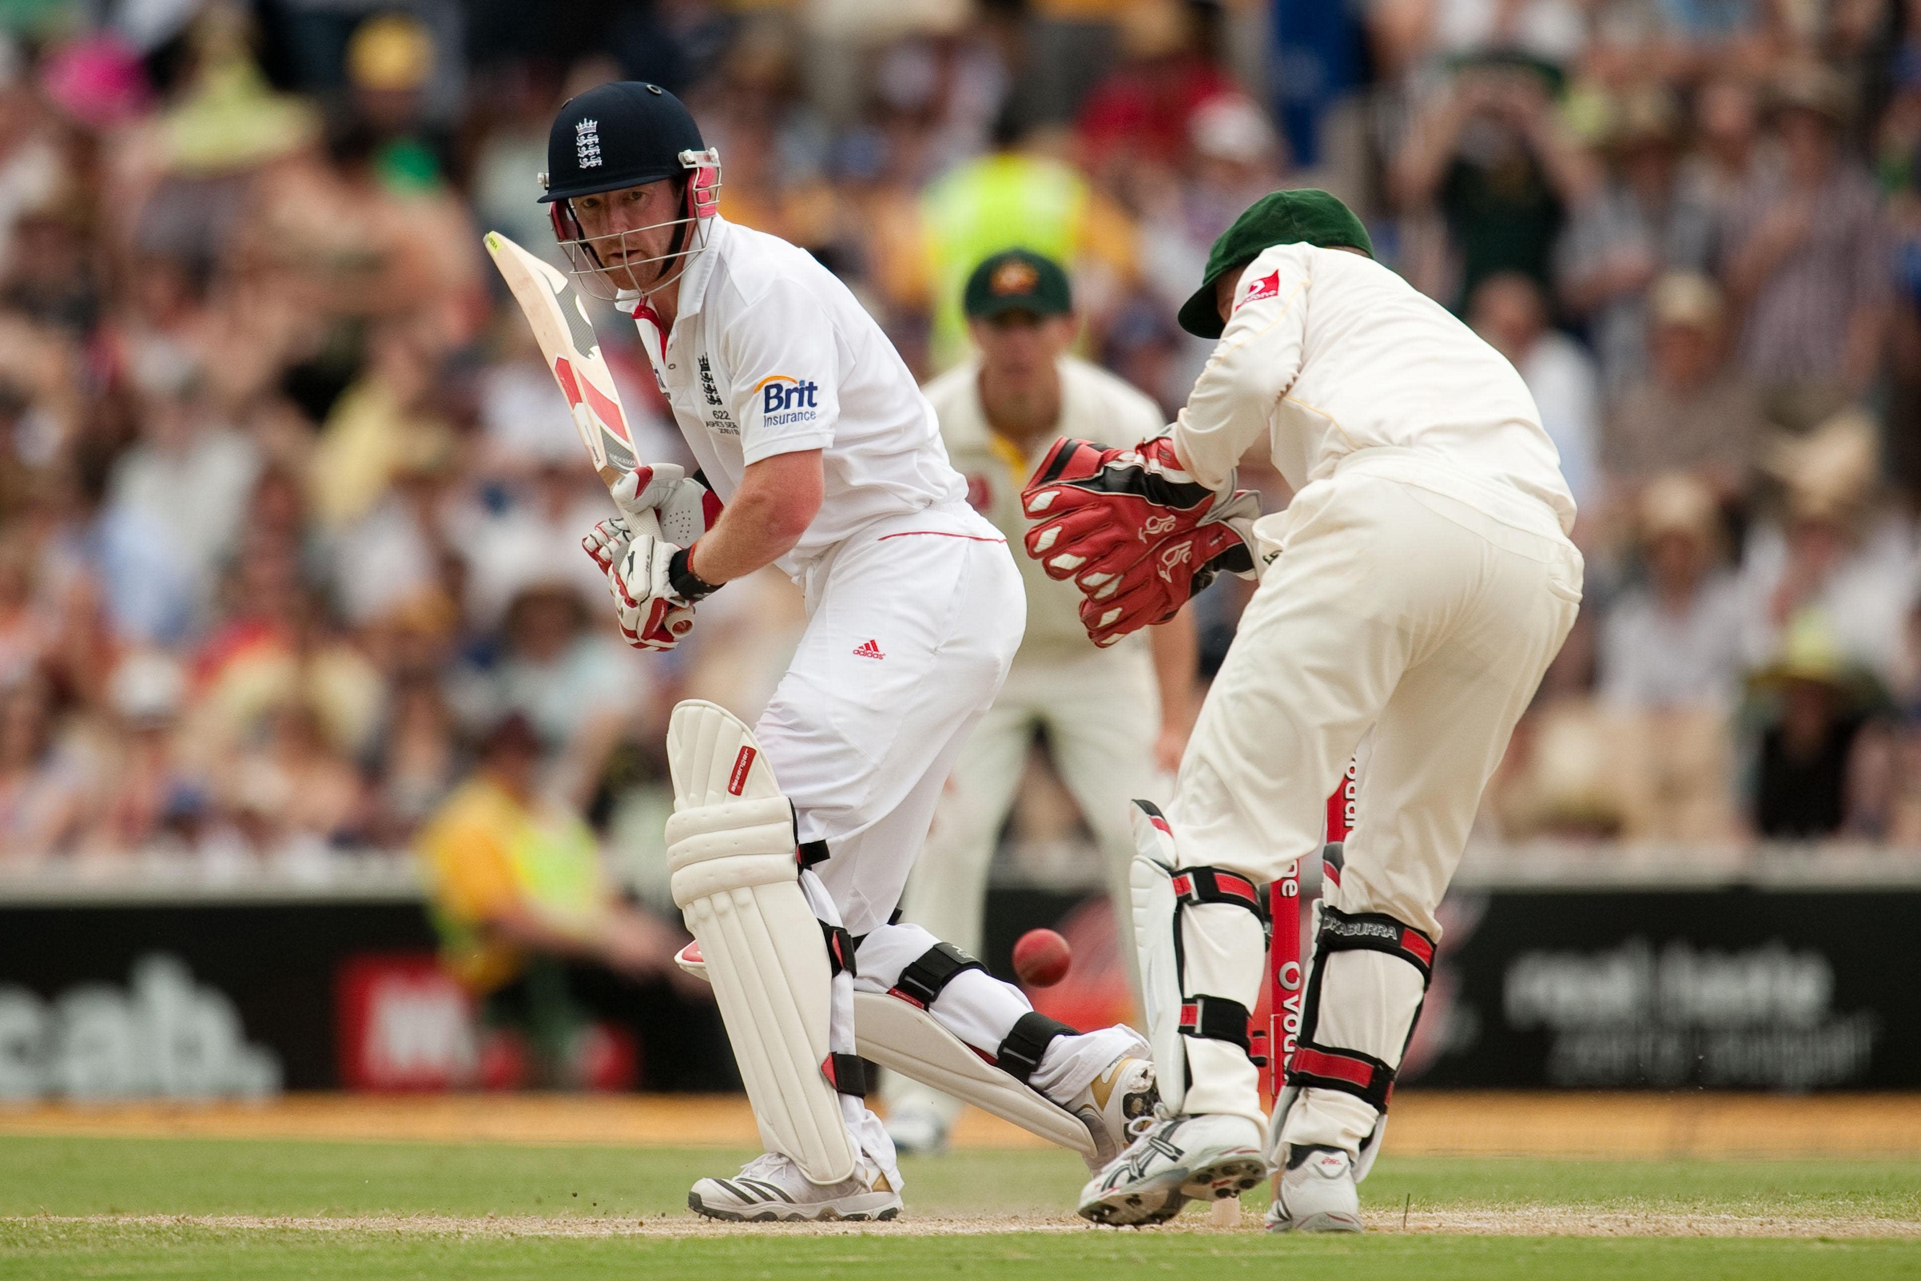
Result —
<svg viewBox="0 0 1921 1281"><path fill-rule="evenodd" d="M907 882L905 920L980 955L987 870L1037 726L1047 730L1049 757L1093 830L1130 985L1139 993L1128 910L1133 858L1128 805L1135 797L1158 803L1166 791L1155 768L1160 688L1153 653L1141 643L1118 651L1089 645L1072 659L1016 659L1001 695L955 761L934 810L928 851ZM897 1072L884 1077L882 1095L889 1110L932 1108L949 1125L960 1112L959 1100Z"/></svg>

